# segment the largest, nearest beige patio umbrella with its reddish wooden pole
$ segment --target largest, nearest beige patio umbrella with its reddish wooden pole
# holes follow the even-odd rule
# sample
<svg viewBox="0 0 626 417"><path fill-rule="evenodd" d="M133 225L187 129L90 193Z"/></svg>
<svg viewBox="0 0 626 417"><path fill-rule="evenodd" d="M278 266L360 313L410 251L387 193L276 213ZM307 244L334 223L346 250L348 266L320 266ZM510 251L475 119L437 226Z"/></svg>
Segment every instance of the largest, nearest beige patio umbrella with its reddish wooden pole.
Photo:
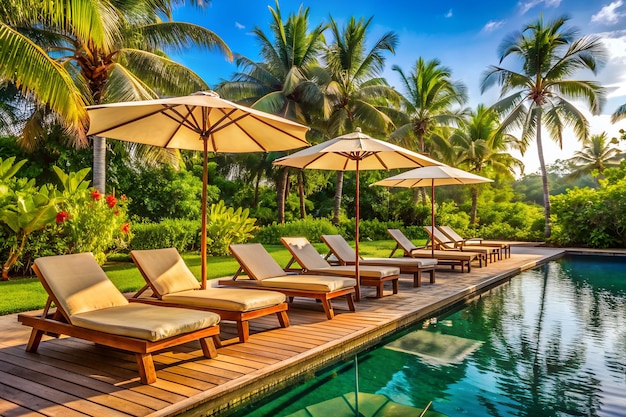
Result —
<svg viewBox="0 0 626 417"><path fill-rule="evenodd" d="M87 107L88 135L204 153L201 263L206 288L209 152L270 152L301 148L308 127L224 100L212 91L157 100Z"/></svg>

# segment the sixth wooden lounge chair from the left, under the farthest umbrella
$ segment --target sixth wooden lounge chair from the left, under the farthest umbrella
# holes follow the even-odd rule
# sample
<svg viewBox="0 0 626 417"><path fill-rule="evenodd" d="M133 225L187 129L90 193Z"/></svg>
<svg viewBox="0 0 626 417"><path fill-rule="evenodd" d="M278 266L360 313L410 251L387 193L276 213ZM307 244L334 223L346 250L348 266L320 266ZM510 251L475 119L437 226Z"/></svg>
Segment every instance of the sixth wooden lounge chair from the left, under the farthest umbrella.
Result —
<svg viewBox="0 0 626 417"><path fill-rule="evenodd" d="M404 256L410 258L433 258L437 259L437 265L450 265L452 269L461 267L461 272L467 267L467 272L472 270L472 262L478 261L478 266L482 266L484 256L475 252L431 250L425 247L417 247L399 229L387 229L387 232L396 241L389 257L391 258L398 249L402 249Z"/></svg>

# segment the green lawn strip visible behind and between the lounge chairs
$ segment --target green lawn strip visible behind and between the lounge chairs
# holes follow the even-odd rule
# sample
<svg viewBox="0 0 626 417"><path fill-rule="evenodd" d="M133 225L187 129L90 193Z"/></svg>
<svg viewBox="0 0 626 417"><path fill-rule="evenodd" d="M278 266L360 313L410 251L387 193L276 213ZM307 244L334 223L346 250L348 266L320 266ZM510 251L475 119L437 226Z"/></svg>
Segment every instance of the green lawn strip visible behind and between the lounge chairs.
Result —
<svg viewBox="0 0 626 417"><path fill-rule="evenodd" d="M420 244L420 242L417 242ZM323 243L314 244L321 254L328 252ZM353 244L354 246L354 244ZM289 252L282 245L264 245L276 261L287 265L291 259ZM394 247L393 241L361 242L359 250L364 257L387 257ZM200 277L200 255L184 253L183 258L196 277ZM231 277L239 268L231 256L212 256L208 259L208 279ZM116 255L107 262L103 269L115 286L122 292L134 292L144 286L141 274L126 254ZM0 315L38 310L45 306L48 298L45 290L35 277L14 278L0 282Z"/></svg>

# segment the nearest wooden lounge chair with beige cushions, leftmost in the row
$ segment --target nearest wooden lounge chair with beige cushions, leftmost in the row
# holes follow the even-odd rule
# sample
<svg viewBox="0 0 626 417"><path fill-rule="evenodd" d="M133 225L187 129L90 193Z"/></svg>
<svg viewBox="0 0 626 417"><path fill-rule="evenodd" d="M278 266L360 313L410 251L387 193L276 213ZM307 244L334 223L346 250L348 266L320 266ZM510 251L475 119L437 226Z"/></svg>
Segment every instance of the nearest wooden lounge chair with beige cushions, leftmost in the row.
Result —
<svg viewBox="0 0 626 417"><path fill-rule="evenodd" d="M44 333L68 335L135 353L141 382L156 382L152 352L199 340L207 358L217 356L220 316L208 311L129 303L91 253L38 258L33 270L48 292L41 316L18 315L33 328L26 346L36 352ZM56 311L51 312L52 304Z"/></svg>

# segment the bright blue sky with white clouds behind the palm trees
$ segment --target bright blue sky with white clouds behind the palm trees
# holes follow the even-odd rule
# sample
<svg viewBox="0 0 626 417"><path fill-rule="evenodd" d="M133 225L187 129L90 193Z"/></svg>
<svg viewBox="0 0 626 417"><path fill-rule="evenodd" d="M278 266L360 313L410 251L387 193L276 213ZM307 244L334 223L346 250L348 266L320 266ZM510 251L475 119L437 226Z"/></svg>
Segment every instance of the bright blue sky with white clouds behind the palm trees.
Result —
<svg viewBox="0 0 626 417"><path fill-rule="evenodd" d="M204 11L183 7L174 18L204 26L222 38L236 54L258 59L259 45L251 35L255 27L269 33L271 15L268 6L275 8L274 0L212 0ZM582 73L579 79L594 79L607 87L607 103L602 115L591 117L592 133L607 131L617 136L620 128L626 129L626 121L611 125L609 116L621 104L626 103L626 0L438 0L438 1L373 1L358 2L341 0L297 1L282 0L280 9L286 19L299 7L309 8L311 26L327 22L332 16L340 26L351 16L372 17L370 39L373 41L384 33L393 31L398 37L395 55L387 57L383 75L398 87L400 83L391 71L398 65L410 71L418 57L438 58L442 65L452 70L455 80L467 85L470 106L479 103L493 104L498 98L498 88L493 87L481 95L481 74L490 64L499 60L498 47L502 40L524 24L543 15L544 20L567 15L569 25L579 29L581 35L594 34L602 38L609 51L609 59L597 76ZM328 34L327 36L330 36ZM237 70L234 63L227 62L215 53L190 51L175 59L196 71L209 85L229 79ZM512 61L504 61L512 68ZM566 133L563 150L547 144L546 162L571 157L580 145L571 133ZM531 148L523 157L526 173L537 170L536 149Z"/></svg>

